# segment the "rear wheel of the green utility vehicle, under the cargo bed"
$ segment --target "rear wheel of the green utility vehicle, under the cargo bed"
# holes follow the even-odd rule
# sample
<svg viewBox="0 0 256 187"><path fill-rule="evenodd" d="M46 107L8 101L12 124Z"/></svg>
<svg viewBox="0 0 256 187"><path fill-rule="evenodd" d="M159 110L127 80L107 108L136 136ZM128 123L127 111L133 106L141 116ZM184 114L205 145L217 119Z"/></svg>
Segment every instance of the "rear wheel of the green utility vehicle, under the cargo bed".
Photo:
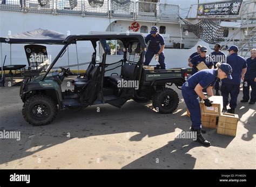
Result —
<svg viewBox="0 0 256 187"><path fill-rule="evenodd" d="M153 107L159 113L169 114L173 113L179 105L179 96L171 88L164 88L153 96Z"/></svg>

